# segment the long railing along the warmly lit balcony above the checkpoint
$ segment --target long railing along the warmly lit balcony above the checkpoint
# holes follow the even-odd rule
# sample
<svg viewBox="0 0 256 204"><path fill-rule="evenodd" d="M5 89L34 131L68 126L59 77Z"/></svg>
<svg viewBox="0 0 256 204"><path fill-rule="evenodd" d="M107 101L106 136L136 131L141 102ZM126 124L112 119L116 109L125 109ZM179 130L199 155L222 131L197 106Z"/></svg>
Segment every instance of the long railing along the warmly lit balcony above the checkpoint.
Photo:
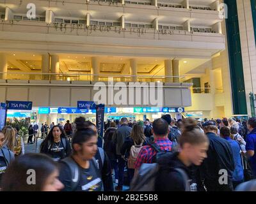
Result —
<svg viewBox="0 0 256 204"><path fill-rule="evenodd" d="M162 82L164 85L168 83L187 83L187 80L191 76L152 76L152 75L107 75L99 74L92 75L89 73L20 73L20 72L0 72L0 80L43 80L49 81L66 81L66 82ZM193 94L211 94L211 87L191 87L191 92ZM222 93L223 88L218 87L214 90L215 94Z"/></svg>

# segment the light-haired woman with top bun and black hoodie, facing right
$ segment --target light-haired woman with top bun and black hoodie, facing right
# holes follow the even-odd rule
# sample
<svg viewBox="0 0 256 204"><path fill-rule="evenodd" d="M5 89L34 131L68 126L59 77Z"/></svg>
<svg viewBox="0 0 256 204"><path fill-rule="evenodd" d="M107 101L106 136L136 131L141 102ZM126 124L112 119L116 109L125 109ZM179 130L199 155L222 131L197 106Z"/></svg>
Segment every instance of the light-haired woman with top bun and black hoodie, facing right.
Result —
<svg viewBox="0 0 256 204"><path fill-rule="evenodd" d="M209 140L195 119L184 119L179 137L179 152L167 153L159 159L156 191L196 191L191 170L207 157Z"/></svg>

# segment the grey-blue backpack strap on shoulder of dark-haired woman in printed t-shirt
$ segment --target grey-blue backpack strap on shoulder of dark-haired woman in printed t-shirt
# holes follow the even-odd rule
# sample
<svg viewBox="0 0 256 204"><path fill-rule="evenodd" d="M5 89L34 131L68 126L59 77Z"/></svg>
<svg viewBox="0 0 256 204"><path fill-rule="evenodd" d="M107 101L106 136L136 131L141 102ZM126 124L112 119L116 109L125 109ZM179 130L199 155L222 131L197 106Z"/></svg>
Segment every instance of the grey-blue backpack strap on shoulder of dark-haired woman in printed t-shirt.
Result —
<svg viewBox="0 0 256 204"><path fill-rule="evenodd" d="M79 171L79 167L76 161L72 159L72 157L66 157L65 159L62 159L61 162L67 164L67 166L70 168L71 176L72 176L70 191L74 191L77 188L79 179L80 179L81 173Z"/></svg>

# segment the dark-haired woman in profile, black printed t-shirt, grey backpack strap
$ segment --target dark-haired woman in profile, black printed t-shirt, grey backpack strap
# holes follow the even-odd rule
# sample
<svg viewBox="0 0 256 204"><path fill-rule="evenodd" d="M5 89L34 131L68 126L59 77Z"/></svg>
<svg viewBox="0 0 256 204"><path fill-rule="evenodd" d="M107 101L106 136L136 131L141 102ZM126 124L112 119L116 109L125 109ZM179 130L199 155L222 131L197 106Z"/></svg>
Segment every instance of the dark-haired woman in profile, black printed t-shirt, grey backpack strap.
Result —
<svg viewBox="0 0 256 204"><path fill-rule="evenodd" d="M101 191L102 179L94 159L97 153L95 131L77 126L72 149L72 155L61 160L60 180L65 186L63 191Z"/></svg>

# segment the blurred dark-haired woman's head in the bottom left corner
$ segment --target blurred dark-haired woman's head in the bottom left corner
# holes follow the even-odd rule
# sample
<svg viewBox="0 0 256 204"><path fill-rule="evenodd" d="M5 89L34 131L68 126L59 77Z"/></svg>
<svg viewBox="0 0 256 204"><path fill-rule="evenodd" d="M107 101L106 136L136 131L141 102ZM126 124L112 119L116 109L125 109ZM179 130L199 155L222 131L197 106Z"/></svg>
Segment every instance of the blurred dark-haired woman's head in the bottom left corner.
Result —
<svg viewBox="0 0 256 204"><path fill-rule="evenodd" d="M60 191L63 184L58 176L59 170L50 157L25 154L8 166L1 181L2 191Z"/></svg>

